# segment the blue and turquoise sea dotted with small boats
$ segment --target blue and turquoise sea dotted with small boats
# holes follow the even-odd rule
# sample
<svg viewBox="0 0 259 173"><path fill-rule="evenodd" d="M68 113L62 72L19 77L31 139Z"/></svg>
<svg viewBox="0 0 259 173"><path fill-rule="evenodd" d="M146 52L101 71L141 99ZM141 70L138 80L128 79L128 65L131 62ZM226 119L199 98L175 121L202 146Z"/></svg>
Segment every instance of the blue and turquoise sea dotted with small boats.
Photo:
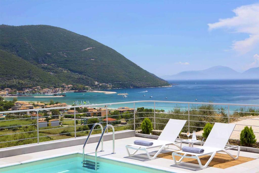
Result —
<svg viewBox="0 0 259 173"><path fill-rule="evenodd" d="M60 98L33 98L18 97L19 101L39 101L73 103L90 102L90 104L107 105L109 108L133 107L132 103L110 105L114 102L128 102L141 100L179 101L179 102L213 102L259 105L259 79L255 80L173 80L169 81L172 87L157 88L130 88L130 89L107 89L103 91L114 91L117 94L104 93L66 93ZM147 91L147 92L145 92ZM127 93L123 98L118 93ZM144 96L145 95L145 96ZM34 96L43 96L42 94ZM44 95L46 96L46 95ZM152 96L152 98L150 98ZM12 100L13 98L5 98ZM197 99L197 100L196 100ZM155 103L156 109L170 110L172 107L187 107L187 104ZM193 106L191 104L190 106ZM154 107L154 102L136 103L135 107ZM237 107L231 106L230 109ZM258 107L257 107L258 108Z"/></svg>

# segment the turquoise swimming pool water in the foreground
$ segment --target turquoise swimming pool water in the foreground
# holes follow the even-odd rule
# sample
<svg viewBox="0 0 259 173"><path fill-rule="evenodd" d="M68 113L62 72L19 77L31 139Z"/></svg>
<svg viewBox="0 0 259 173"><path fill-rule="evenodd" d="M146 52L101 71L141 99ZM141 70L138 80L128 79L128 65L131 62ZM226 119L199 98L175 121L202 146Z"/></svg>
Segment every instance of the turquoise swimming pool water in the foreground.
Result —
<svg viewBox="0 0 259 173"><path fill-rule="evenodd" d="M87 160L93 161L92 156L86 156ZM147 173L164 171L146 168L138 165L127 164L123 162L112 161L104 158L98 158L98 170L92 170L82 167L82 154L72 154L56 158L49 158L41 161L19 164L15 166L0 168L1 173Z"/></svg>

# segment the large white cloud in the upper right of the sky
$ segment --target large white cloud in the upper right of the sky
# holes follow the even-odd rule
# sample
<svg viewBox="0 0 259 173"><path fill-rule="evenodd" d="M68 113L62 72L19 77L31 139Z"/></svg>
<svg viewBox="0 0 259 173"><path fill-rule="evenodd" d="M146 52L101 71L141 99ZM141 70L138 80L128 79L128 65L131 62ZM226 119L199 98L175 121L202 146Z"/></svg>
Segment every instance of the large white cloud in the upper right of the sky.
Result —
<svg viewBox="0 0 259 173"><path fill-rule="evenodd" d="M233 12L236 16L208 24L209 30L224 27L234 32L249 34L249 38L233 41L232 44L232 49L238 52L249 52L259 43L259 3L240 6Z"/></svg>

